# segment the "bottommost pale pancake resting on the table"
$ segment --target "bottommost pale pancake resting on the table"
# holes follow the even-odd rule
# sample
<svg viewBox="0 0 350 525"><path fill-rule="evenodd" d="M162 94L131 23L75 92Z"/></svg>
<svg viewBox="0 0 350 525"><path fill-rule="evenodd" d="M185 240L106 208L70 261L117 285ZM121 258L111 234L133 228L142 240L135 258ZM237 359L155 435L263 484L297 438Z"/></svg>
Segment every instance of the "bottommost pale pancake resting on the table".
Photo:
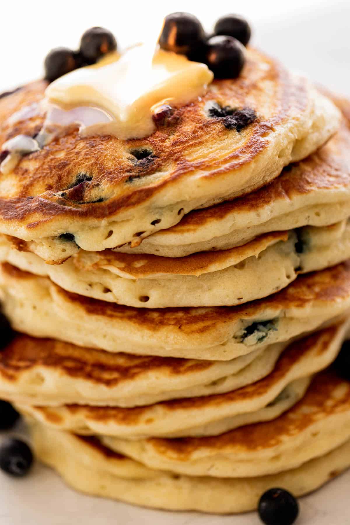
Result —
<svg viewBox="0 0 350 525"><path fill-rule="evenodd" d="M90 495L167 510L220 514L254 510L262 493L284 487L303 496L350 466L350 442L299 468L255 478L190 477L156 472L98 441L34 425L36 457L73 488Z"/></svg>

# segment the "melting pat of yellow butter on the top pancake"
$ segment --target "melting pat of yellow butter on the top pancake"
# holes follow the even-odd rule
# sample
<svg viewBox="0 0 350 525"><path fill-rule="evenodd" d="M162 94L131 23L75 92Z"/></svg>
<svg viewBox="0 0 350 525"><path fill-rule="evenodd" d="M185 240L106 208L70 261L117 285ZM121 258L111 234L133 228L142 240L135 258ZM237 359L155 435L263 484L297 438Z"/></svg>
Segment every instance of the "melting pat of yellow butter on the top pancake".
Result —
<svg viewBox="0 0 350 525"><path fill-rule="evenodd" d="M75 118L77 121L79 108L81 134L113 134L126 140L154 132L154 107L164 102L186 104L203 95L213 78L205 64L162 49L154 51L153 46L137 45L122 55L107 56L94 66L58 78L45 94L49 107L56 106L57 120L65 125ZM86 123L83 108L89 109ZM96 109L93 118L92 108ZM62 119L60 110L65 113Z"/></svg>

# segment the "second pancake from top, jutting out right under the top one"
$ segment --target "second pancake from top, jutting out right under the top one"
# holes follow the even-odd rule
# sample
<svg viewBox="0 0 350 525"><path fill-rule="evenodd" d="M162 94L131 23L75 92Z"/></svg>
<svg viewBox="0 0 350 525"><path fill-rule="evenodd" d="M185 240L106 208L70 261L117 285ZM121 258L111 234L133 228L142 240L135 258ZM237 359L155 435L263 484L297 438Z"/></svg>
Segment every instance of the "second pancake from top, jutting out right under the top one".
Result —
<svg viewBox="0 0 350 525"><path fill-rule="evenodd" d="M271 184L249 195L187 214L139 247L118 251L183 257L247 243L264 233L306 225L328 226L348 217L350 206L350 102L339 133L309 158L286 167Z"/></svg>

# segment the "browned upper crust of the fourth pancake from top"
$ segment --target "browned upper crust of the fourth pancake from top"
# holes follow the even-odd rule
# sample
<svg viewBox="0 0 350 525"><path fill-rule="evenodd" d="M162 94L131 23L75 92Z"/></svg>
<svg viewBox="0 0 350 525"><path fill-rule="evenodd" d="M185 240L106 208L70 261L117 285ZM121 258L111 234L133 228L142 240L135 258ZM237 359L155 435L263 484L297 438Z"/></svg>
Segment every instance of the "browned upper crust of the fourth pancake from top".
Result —
<svg viewBox="0 0 350 525"><path fill-rule="evenodd" d="M14 266L1 265L5 275L16 279L33 278L32 274L23 272ZM76 303L87 314L102 318L122 320L134 325L137 330L161 332L164 328L174 329L183 334L203 335L219 329L225 323L238 320L259 318L264 311L283 311L284 309L303 308L307 303L320 301L328 306L339 302L350 294L350 261L299 276L287 288L273 295L234 307L211 308L132 308L121 304L100 301L67 292L56 285L55 292L69 302Z"/></svg>

